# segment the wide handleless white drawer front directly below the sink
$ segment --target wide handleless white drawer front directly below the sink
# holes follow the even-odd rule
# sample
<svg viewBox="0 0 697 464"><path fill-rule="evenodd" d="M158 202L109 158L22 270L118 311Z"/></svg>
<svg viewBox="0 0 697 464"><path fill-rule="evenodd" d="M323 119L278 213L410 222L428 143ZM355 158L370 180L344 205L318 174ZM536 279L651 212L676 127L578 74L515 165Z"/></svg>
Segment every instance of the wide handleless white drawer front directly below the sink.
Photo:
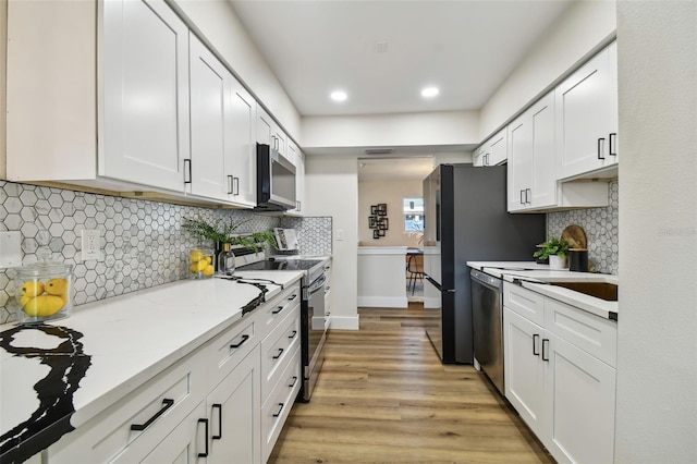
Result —
<svg viewBox="0 0 697 464"><path fill-rule="evenodd" d="M598 359L617 364L617 325L557 300L545 300L545 329Z"/></svg>

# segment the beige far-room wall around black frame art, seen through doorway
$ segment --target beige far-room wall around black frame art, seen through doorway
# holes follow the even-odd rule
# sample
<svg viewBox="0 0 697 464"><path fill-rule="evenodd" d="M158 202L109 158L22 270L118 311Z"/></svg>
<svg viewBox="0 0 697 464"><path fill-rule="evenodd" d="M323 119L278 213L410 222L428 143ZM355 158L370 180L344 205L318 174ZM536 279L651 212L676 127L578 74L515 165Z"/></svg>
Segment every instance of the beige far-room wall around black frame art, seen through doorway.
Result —
<svg viewBox="0 0 697 464"><path fill-rule="evenodd" d="M399 162L399 161L398 161ZM405 197L423 197L424 181L364 181L358 182L358 240L364 246L412 246L419 247L420 236L404 231L403 202ZM388 205L390 229L380 239L372 237L368 228L370 206Z"/></svg>

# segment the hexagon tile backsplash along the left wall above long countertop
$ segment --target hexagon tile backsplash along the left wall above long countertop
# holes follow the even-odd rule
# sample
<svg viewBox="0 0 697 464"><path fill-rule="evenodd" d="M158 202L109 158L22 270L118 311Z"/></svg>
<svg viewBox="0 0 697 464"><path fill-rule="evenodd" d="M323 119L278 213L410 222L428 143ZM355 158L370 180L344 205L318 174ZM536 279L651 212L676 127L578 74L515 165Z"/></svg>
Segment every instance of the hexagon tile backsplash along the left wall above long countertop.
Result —
<svg viewBox="0 0 697 464"><path fill-rule="evenodd" d="M21 231L23 265L36 262L41 255L74 265L75 305L186 278L186 249L197 240L181 229L183 218L245 221L240 232L270 230L280 223L279 218L245 210L0 181L0 231ZM101 232L103 259L81 259L83 229ZM322 241L331 246L331 236ZM16 320L13 279L13 269L0 269L0 323Z"/></svg>

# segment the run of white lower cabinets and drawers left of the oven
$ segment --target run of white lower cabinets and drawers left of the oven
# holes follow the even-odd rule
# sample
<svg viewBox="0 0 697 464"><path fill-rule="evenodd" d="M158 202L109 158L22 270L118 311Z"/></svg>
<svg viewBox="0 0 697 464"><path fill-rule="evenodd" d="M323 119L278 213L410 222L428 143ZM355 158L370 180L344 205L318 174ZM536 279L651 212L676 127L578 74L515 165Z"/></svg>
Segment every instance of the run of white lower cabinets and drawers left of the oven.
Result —
<svg viewBox="0 0 697 464"><path fill-rule="evenodd" d="M266 462L302 380L297 295L290 285L78 425L48 462Z"/></svg>

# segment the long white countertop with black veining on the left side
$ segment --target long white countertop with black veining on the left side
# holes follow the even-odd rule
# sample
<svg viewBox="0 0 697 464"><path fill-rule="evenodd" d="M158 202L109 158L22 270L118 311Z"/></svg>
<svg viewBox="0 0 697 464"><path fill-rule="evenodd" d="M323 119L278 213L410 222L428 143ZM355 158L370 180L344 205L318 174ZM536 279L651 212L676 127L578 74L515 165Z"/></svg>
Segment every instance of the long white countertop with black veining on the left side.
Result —
<svg viewBox="0 0 697 464"><path fill-rule="evenodd" d="M252 271L235 276L268 279L266 301L301 279L299 271ZM261 293L255 285L223 279L181 280L73 308L70 317L44 326L73 333L89 356L84 377L72 394L75 428L136 390L158 373L242 318L242 308ZM41 359L65 338L16 323L0 326L0 434L26 422L39 408L35 384L51 368ZM17 354L28 350L29 355ZM38 355L38 356L37 356ZM50 356L50 354L49 354ZM74 355L73 355L74 356ZM60 388L60 386L58 386ZM48 392L60 396L61 391ZM71 400L71 399L69 399Z"/></svg>

